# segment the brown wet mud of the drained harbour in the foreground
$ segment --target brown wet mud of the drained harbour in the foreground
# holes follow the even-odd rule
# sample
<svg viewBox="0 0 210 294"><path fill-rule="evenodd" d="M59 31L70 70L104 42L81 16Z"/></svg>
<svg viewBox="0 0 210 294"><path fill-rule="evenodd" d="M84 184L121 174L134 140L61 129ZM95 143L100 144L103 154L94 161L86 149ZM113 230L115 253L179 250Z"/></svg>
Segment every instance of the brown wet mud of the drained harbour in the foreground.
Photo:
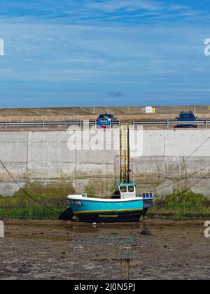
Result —
<svg viewBox="0 0 210 294"><path fill-rule="evenodd" d="M4 222L0 279L210 279L204 221ZM148 229L152 235L141 235Z"/></svg>

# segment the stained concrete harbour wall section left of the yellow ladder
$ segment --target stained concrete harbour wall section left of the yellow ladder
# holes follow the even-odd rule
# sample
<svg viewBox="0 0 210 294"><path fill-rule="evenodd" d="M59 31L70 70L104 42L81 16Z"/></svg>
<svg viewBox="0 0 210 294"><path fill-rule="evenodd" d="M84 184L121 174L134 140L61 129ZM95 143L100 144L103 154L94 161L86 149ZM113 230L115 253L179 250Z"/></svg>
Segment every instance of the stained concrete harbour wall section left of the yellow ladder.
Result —
<svg viewBox="0 0 210 294"><path fill-rule="evenodd" d="M93 193L111 192L119 181L120 151L70 151L68 141L67 132L2 132L1 160L22 185L69 181L79 193L86 187ZM0 195L12 196L16 191L1 168Z"/></svg>

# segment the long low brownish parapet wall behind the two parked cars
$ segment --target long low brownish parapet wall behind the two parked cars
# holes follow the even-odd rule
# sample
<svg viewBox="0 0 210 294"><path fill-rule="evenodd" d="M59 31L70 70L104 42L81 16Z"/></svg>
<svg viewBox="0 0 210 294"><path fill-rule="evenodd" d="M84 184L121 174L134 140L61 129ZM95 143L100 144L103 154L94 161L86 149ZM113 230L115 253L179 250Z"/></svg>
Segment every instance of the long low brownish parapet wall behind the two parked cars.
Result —
<svg viewBox="0 0 210 294"><path fill-rule="evenodd" d="M52 109L0 109L0 121L94 120L100 113L113 113L120 120L175 118L181 111L193 111L199 118L210 118L210 106L66 107Z"/></svg>

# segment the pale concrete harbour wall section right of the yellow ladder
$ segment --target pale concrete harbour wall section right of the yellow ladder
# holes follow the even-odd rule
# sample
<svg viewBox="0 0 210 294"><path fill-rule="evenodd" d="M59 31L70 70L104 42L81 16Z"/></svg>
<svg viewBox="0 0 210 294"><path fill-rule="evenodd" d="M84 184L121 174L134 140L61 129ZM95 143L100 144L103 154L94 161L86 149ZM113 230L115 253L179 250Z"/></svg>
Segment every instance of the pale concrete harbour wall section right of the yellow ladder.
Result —
<svg viewBox="0 0 210 294"><path fill-rule="evenodd" d="M209 130L144 130L143 146L143 155L131 159L140 189L169 195L209 174L191 190L210 196ZM169 186L175 181L179 183Z"/></svg>

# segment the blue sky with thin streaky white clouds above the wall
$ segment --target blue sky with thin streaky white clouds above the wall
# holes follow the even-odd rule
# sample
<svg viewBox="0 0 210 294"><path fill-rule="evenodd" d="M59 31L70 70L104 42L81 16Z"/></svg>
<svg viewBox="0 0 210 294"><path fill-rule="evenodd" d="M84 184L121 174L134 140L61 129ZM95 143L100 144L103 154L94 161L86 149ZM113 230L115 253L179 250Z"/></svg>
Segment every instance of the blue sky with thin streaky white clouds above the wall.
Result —
<svg viewBox="0 0 210 294"><path fill-rule="evenodd" d="M1 0L0 108L209 104L208 0Z"/></svg>

